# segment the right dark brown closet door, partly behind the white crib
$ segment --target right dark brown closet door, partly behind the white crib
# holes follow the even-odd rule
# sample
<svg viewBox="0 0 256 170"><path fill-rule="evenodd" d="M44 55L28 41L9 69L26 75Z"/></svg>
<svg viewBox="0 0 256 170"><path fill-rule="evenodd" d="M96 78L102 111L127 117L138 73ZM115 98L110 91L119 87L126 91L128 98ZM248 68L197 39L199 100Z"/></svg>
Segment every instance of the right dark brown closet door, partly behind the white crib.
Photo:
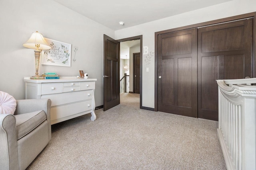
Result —
<svg viewBox="0 0 256 170"><path fill-rule="evenodd" d="M198 117L218 121L218 79L252 77L252 19L198 29Z"/></svg>

